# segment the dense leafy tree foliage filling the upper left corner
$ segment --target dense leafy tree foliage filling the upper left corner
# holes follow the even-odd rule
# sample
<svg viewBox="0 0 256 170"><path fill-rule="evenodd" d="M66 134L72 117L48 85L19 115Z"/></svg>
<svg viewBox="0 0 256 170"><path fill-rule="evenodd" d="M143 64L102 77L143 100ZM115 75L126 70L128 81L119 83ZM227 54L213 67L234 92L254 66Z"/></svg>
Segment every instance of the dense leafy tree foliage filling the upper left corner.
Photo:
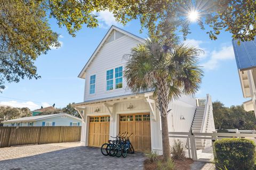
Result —
<svg viewBox="0 0 256 170"><path fill-rule="evenodd" d="M50 46L60 46L39 2L0 1L0 90L5 81L40 78L34 61Z"/></svg>

